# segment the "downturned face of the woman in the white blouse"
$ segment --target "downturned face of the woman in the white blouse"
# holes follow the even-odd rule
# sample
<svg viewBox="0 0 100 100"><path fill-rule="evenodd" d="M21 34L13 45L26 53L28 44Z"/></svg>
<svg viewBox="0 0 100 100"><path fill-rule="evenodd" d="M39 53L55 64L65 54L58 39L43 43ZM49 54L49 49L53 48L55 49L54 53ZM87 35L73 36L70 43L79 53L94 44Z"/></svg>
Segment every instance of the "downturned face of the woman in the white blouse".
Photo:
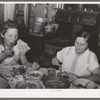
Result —
<svg viewBox="0 0 100 100"><path fill-rule="evenodd" d="M77 54L82 54L88 48L87 39L83 37L77 37L75 40L75 52Z"/></svg>

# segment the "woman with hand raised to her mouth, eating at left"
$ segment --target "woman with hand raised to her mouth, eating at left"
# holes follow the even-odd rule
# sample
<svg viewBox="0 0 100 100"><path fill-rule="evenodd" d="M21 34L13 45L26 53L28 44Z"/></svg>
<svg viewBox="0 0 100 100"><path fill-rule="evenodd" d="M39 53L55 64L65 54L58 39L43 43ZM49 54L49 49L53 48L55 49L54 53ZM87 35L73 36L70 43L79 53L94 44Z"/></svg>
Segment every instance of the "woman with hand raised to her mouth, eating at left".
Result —
<svg viewBox="0 0 100 100"><path fill-rule="evenodd" d="M18 28L14 21L8 20L4 23L0 36L0 88L6 88L12 68L15 65L18 66L21 63L26 68L38 69L39 64L37 62L32 64L27 61L25 53L30 47L27 43L18 39Z"/></svg>

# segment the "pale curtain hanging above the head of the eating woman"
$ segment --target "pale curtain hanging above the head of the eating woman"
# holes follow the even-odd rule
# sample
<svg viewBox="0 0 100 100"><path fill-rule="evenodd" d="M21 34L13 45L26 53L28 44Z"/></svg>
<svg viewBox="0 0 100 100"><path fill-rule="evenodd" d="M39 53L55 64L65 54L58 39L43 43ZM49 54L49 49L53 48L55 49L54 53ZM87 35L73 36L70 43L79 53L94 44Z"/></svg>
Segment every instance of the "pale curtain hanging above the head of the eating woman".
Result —
<svg viewBox="0 0 100 100"><path fill-rule="evenodd" d="M15 4L4 4L4 21L8 19L14 20L15 17Z"/></svg>

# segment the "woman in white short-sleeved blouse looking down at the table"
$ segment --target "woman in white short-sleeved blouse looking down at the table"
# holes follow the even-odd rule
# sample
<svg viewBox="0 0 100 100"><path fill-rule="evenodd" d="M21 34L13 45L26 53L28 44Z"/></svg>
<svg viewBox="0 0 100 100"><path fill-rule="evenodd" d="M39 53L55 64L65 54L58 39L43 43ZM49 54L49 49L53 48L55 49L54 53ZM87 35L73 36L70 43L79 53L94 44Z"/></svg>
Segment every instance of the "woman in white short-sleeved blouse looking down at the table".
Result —
<svg viewBox="0 0 100 100"><path fill-rule="evenodd" d="M100 84L100 66L96 54L89 50L90 33L84 30L78 32L75 46L65 47L57 52L52 64L61 66L63 75L75 86L97 88Z"/></svg>

